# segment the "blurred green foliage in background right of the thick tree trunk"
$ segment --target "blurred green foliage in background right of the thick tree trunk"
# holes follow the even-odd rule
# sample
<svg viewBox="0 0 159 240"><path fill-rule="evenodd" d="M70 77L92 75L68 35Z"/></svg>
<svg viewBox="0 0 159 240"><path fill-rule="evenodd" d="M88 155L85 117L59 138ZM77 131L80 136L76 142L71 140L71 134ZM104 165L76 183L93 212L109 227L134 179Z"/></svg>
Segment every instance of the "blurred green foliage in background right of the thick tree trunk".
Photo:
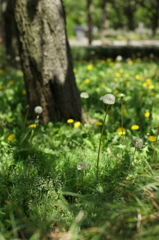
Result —
<svg viewBox="0 0 159 240"><path fill-rule="evenodd" d="M93 0L91 1L92 22L99 30L101 29L102 2L107 5L107 26L113 29L135 30L140 22L144 24L146 35L158 34L159 23L158 0ZM63 0L66 17L67 33L69 37L75 37L73 26L87 24L88 0L71 1ZM155 33L154 33L155 31ZM99 36L98 36L99 37Z"/></svg>

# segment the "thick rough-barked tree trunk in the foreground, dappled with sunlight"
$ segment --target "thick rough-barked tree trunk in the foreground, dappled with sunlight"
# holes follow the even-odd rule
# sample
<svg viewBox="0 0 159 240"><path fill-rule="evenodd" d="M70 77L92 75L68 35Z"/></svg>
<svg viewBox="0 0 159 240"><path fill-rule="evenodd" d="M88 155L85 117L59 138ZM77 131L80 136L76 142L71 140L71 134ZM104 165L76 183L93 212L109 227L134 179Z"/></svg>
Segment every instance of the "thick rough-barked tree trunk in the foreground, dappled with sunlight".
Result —
<svg viewBox="0 0 159 240"><path fill-rule="evenodd" d="M31 118L82 121L61 0L13 0Z"/></svg>

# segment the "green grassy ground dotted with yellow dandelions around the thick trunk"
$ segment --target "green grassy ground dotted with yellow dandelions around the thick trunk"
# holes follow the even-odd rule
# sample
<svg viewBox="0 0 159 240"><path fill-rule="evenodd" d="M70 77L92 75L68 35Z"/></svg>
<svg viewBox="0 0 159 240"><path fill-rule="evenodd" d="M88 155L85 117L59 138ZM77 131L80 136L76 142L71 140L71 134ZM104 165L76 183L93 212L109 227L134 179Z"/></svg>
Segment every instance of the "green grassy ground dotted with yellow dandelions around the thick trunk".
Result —
<svg viewBox="0 0 159 240"><path fill-rule="evenodd" d="M46 125L0 70L0 239L158 239L158 66L75 62L87 121Z"/></svg>

